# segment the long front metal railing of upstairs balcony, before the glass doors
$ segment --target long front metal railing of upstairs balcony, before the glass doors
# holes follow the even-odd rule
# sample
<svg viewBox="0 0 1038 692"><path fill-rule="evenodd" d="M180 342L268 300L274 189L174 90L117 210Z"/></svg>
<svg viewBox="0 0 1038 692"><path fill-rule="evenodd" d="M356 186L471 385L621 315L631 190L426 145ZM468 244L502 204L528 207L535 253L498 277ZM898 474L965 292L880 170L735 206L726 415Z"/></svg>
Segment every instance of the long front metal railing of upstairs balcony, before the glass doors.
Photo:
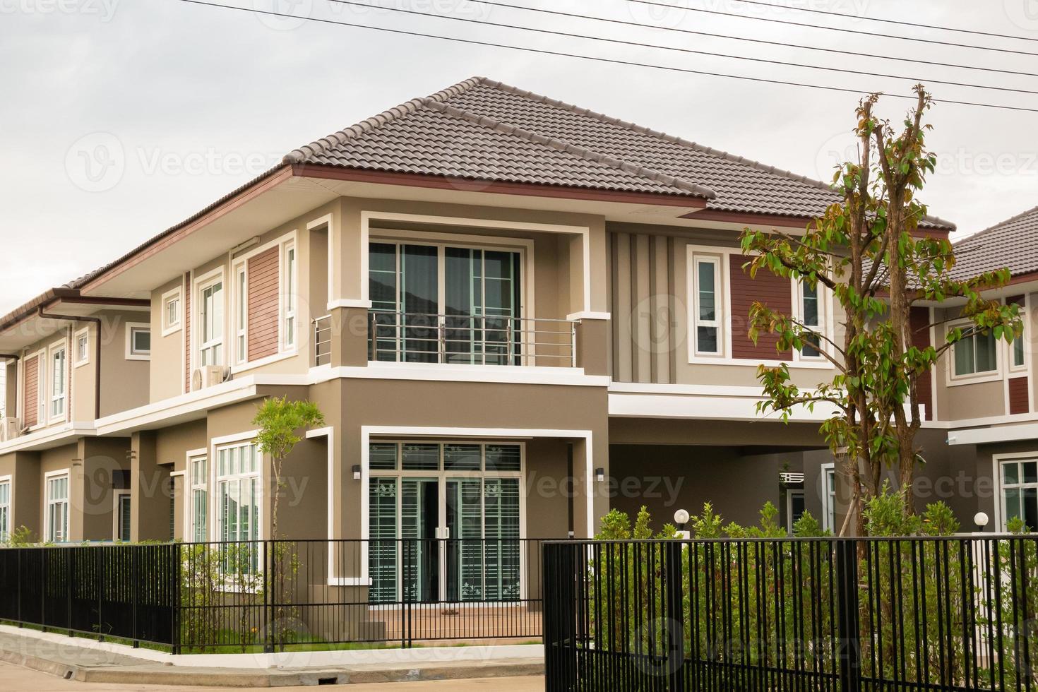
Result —
<svg viewBox="0 0 1038 692"><path fill-rule="evenodd" d="M367 354L380 362L575 367L576 323L374 310Z"/></svg>

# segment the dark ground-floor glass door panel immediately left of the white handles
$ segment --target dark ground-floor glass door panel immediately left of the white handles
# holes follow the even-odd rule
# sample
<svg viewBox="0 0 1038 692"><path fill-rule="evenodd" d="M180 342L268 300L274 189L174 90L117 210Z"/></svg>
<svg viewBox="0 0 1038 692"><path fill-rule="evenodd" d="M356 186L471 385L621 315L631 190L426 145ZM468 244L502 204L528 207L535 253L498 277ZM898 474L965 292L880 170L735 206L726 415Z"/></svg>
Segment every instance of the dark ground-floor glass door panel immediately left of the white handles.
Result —
<svg viewBox="0 0 1038 692"><path fill-rule="evenodd" d="M440 482L436 478L401 478L401 537L405 601L440 599L440 554L436 529L440 520Z"/></svg>

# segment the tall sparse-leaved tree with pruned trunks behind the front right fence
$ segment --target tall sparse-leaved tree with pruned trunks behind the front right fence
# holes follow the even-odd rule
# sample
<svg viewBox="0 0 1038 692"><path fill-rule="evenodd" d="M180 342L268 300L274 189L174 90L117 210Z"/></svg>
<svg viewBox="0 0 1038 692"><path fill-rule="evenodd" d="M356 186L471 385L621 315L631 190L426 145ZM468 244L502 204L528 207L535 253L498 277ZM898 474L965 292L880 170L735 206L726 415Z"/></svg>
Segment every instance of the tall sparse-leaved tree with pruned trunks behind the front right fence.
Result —
<svg viewBox="0 0 1038 692"><path fill-rule="evenodd" d="M822 284L843 309L840 339L757 302L749 336L756 341L762 332L774 334L780 352L813 348L832 364L836 375L813 391L799 389L786 365L762 365L758 379L765 399L758 412L776 412L788 420L800 407L834 407L821 433L850 477L851 514L861 535L867 528L862 509L879 492L882 470L896 469L902 489L914 480L914 440L922 422L918 379L962 339L993 334L1011 341L1022 330L1016 306L981 295L1005 285L1009 270L957 278L951 243L920 229L926 205L919 194L936 156L925 145L932 126L923 123L932 100L922 85L914 91L917 102L900 134L874 114L879 94L858 104L858 161L837 168L832 188L841 199L808 224L802 237L746 228L741 238L752 276L766 269L813 289ZM971 324L949 330L939 345L914 345L912 305L952 298L959 299L961 316ZM846 529L847 523L841 533Z"/></svg>

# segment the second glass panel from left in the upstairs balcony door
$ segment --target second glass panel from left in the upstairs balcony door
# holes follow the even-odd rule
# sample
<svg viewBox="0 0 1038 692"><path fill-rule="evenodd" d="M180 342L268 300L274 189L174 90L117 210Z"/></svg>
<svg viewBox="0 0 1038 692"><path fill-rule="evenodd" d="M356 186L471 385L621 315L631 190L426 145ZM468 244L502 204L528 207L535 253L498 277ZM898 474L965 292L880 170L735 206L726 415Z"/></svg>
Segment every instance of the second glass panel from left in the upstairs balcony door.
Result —
<svg viewBox="0 0 1038 692"><path fill-rule="evenodd" d="M439 361L439 250L405 245L401 251L404 360L435 363Z"/></svg>

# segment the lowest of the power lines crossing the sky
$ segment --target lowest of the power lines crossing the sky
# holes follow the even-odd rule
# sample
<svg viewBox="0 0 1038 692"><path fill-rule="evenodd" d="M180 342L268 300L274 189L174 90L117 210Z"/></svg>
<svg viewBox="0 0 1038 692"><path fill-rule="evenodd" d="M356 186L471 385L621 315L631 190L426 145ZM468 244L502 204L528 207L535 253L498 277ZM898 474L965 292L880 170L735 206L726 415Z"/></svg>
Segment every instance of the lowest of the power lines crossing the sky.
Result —
<svg viewBox="0 0 1038 692"><path fill-rule="evenodd" d="M523 51L523 52L526 52L526 53L538 53L540 55L551 55L551 56L564 57L564 58L578 58L578 59L581 59L581 60L594 60L596 62L606 62L606 63L609 63L609 64L629 65L629 66L633 66L633 67L649 67L651 70L664 70L664 71L667 71L667 72L678 72L678 73L683 73L683 74L688 74L688 75L703 75L703 76L706 76L706 77L720 77L720 78L725 78L725 79L738 79L738 80L743 80L743 81L747 81L747 82L759 82L759 83L764 83L764 84L778 84L778 85L784 85L784 86L800 86L800 87L813 88L813 89L824 89L826 91L839 91L839 92L842 92L842 93L853 93L853 94L857 94L857 95L863 95L863 94L869 94L869 93L871 93L871 91L868 91L868 90L864 90L864 89L851 89L851 88L842 87L842 86L828 86L828 85L824 85L824 84L808 84L805 82L793 82L793 81L777 80L777 79L766 79L764 77L749 77L747 75L729 75L729 74L726 74L726 73L706 72L706 71L703 71L703 70L690 70L688 67L674 67L674 66L670 66L670 65L652 64L652 63L649 63L649 62L636 62L634 60L621 60L621 59L618 59L618 58L602 58L602 57L597 57L597 56L593 56L593 55L581 55L581 54L578 54L578 53L563 53L562 51L549 51L549 50L541 49L541 48L526 48L526 47L523 47L523 46L510 46L508 44L494 44L494 43L491 43L491 41L475 40L474 38L459 38L459 37L456 37L456 36L440 36L440 35L437 35L437 34L422 33L420 31L407 31L405 29L391 29L389 27L370 26L370 25L366 25L366 24L353 24L351 22L337 22L335 20L329 20L329 19L324 19L324 18L320 18L320 17L298 17L296 15L289 15L286 12L275 12L275 11L268 10L268 9L256 9L256 8L252 8L252 7L239 7L239 6L236 6L236 5L222 5L222 4L219 4L219 3L216 3L216 2L206 2L204 0L181 0L181 2L187 2L187 3L193 4L193 5L204 5L207 7L220 7L222 9L234 9L234 10L237 10L237 11L249 12L249 13L252 13L252 15L266 15L266 16L269 16L269 17L281 17L281 18L284 18L284 19L291 19L291 20L297 20L297 21L318 22L318 23L321 23L321 24L333 24L333 25L336 25L336 26L348 26L348 27L353 27L353 28L356 28L356 29L370 29L370 30L373 30L373 31L383 31L383 32L386 32L386 33L395 33L395 34L400 34L400 35L404 35L404 36L417 36L417 37L420 37L420 38L436 38L436 39L439 39L439 40L449 40L449 41L459 43L459 44L468 44L470 46L485 46L485 47L488 47L488 48L503 48L503 49L509 49L509 50L513 50L513 51ZM913 95L906 95L906 94L900 94L900 93L889 93L889 94L884 94L884 95L887 95L891 99L908 99L908 100L914 100L916 99L916 96L913 96ZM953 100L948 100L948 99L934 99L933 102L934 103L939 103L939 104L955 104L955 105L958 105L958 106L977 106L977 107L980 107L980 108L993 108L993 109L999 109L999 110L1011 110L1011 111L1021 111L1021 112L1027 112L1027 113L1038 113L1038 108L1026 108L1023 106L1004 106L1004 105L999 105L999 104L983 104L983 103L977 103L977 102L972 102L972 101L953 101Z"/></svg>

